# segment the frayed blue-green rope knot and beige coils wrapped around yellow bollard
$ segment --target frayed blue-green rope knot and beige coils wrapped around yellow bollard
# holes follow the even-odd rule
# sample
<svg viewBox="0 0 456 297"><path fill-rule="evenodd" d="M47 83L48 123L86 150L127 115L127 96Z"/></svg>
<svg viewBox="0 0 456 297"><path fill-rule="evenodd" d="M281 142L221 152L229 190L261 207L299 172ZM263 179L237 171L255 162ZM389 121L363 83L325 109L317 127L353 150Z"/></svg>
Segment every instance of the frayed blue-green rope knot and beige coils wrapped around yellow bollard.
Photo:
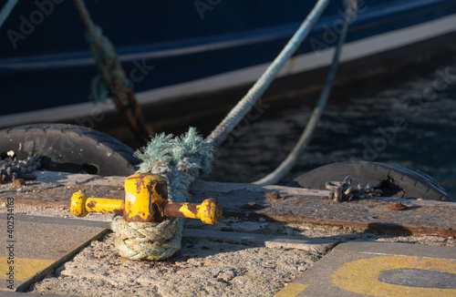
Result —
<svg viewBox="0 0 456 297"><path fill-rule="evenodd" d="M168 180L168 195L172 202L190 200L192 182L212 169L212 144L194 128L181 138L164 134L151 138L135 156L143 160L138 172L160 174ZM181 248L182 219L138 223L116 216L111 228L117 235L114 241L117 251L131 260L163 260Z"/></svg>

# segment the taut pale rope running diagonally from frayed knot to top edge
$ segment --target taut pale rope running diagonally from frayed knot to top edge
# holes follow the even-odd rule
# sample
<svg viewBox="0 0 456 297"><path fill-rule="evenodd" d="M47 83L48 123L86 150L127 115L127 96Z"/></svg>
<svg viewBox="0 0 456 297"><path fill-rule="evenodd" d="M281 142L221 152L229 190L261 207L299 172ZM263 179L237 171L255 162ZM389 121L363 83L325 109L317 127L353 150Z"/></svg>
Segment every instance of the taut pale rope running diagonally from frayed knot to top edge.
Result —
<svg viewBox="0 0 456 297"><path fill-rule="evenodd" d="M280 69L284 67L288 59L295 53L298 46L301 45L316 21L323 13L329 0L318 0L312 11L307 15L304 22L299 26L295 35L288 41L284 49L275 58L273 63L267 67L264 74L255 82L247 94L238 102L230 111L223 121L215 128L207 138L213 143L213 148L220 147L223 140L233 130L233 128L244 118L255 102L263 95L264 91L274 80Z"/></svg>

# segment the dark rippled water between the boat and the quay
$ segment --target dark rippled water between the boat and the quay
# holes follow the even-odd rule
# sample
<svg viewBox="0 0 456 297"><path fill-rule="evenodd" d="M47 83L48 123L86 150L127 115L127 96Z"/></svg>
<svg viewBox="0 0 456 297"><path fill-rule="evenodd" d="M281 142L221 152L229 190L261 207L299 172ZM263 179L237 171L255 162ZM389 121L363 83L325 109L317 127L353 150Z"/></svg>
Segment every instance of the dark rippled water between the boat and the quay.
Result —
<svg viewBox="0 0 456 297"><path fill-rule="evenodd" d="M211 180L252 182L294 147L314 103L271 103L244 121L216 153ZM440 56L388 77L337 87L314 137L285 184L333 162L368 160L411 166L456 196L456 57Z"/></svg>

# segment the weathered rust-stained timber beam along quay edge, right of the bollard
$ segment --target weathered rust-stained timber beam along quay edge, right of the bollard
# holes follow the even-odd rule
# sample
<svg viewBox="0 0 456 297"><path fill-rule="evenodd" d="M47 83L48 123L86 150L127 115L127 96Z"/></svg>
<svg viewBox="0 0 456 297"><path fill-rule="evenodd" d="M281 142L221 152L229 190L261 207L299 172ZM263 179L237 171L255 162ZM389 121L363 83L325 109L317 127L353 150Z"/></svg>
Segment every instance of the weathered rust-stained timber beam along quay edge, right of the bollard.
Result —
<svg viewBox="0 0 456 297"><path fill-rule="evenodd" d="M232 194L233 193L233 194ZM349 202L335 202L317 196L287 196L285 200L266 200L265 194L255 198L263 205L262 210L243 209L252 201L248 190L233 190L219 195L210 193L223 202L225 216L240 218L267 217L279 221L329 224L358 230L372 228L389 233L427 234L456 236L456 210L453 202L400 200L395 198L373 198ZM196 192L196 195L201 195ZM247 200L248 199L248 200ZM401 202L408 209L388 210L390 202ZM442 205L444 204L444 205ZM448 207L445 206L448 204Z"/></svg>

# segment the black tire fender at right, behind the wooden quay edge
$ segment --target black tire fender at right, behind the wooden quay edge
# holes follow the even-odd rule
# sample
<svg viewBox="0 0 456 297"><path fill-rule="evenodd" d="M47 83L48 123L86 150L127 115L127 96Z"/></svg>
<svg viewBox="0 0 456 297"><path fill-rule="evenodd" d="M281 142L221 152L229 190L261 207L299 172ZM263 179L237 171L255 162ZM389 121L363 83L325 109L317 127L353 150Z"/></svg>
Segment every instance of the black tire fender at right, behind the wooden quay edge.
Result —
<svg viewBox="0 0 456 297"><path fill-rule="evenodd" d="M326 181L342 181L348 175L353 178L353 185L370 183L382 189L383 196L456 201L434 179L417 169L367 161L328 164L306 172L287 186L326 189Z"/></svg>

